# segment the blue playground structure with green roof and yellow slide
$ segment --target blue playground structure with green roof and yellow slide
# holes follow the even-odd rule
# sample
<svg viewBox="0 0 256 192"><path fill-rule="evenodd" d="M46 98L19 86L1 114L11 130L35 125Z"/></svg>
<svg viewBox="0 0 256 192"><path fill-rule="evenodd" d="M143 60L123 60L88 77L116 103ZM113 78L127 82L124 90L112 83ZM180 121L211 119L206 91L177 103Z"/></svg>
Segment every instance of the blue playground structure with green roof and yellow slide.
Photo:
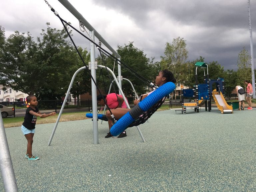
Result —
<svg viewBox="0 0 256 192"><path fill-rule="evenodd" d="M228 105L224 98L225 84L224 79L218 78L217 80L209 79L208 65L204 62L196 62L196 74L195 74L195 89L183 89L181 88L181 102L182 113L186 114L186 108L194 108L195 112L199 112L199 107L205 102L205 111L211 111L211 97L213 97L218 109L221 113L233 113L232 106ZM204 70L204 83L198 84L197 68L200 67ZM205 69L207 73L205 74ZM213 85L216 85L216 89L213 90ZM194 97L194 102L184 102L184 97Z"/></svg>

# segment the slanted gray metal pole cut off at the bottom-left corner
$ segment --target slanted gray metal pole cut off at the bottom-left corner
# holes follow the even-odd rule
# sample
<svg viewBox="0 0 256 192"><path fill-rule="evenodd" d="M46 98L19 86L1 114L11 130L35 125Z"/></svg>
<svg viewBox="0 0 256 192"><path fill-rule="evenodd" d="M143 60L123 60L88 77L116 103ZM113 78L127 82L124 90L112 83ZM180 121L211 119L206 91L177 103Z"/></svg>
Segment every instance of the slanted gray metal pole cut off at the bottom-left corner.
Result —
<svg viewBox="0 0 256 192"><path fill-rule="evenodd" d="M0 166L5 192L18 191L2 115L0 115Z"/></svg>

